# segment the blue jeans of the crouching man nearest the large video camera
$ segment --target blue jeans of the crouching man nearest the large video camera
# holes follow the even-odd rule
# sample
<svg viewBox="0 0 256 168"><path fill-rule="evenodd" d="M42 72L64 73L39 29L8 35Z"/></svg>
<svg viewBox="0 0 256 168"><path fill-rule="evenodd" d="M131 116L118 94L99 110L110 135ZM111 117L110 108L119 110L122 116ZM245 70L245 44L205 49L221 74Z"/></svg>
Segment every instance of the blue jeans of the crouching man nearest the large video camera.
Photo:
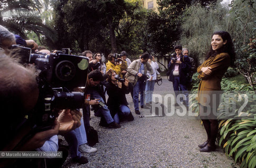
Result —
<svg viewBox="0 0 256 168"><path fill-rule="evenodd" d="M103 103L105 103L103 98L98 93L98 91L92 90L92 94L93 94L93 98L91 99L99 99L98 101L102 101ZM108 124L114 121L106 105L100 108L98 111L96 111L96 113L97 113L96 116L98 116L100 113L101 114L100 116L103 116Z"/></svg>

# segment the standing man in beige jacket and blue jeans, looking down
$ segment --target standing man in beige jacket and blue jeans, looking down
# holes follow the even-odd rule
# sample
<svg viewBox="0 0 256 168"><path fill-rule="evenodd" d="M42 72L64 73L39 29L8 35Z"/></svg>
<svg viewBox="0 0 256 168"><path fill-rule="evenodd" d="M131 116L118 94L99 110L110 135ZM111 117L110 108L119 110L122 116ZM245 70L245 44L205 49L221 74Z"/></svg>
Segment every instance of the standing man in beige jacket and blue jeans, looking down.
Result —
<svg viewBox="0 0 256 168"><path fill-rule="evenodd" d="M151 65L148 62L149 54L144 53L137 60L131 62L127 68L126 78L134 85L134 108L135 113L139 112L139 92L140 92L140 107L144 108L144 91L146 87L147 72L150 71L150 75L154 74Z"/></svg>

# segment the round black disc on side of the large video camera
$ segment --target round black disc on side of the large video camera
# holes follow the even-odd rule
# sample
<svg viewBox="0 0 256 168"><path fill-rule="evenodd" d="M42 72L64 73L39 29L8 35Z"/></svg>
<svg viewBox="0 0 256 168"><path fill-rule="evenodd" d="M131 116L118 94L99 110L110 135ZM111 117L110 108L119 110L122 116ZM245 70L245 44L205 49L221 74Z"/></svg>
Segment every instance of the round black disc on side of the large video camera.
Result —
<svg viewBox="0 0 256 168"><path fill-rule="evenodd" d="M55 67L55 75L62 81L70 81L75 76L75 66L71 61L60 61Z"/></svg>

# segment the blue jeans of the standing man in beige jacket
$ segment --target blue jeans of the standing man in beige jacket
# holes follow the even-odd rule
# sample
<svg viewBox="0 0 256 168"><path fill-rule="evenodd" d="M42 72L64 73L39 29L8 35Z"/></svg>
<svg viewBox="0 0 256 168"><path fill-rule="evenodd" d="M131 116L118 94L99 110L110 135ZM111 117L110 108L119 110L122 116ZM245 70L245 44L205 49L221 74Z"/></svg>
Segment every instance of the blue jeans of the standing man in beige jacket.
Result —
<svg viewBox="0 0 256 168"><path fill-rule="evenodd" d="M144 105L144 91L146 82L138 81L134 86L134 109L139 110L139 92L140 92L140 106Z"/></svg>

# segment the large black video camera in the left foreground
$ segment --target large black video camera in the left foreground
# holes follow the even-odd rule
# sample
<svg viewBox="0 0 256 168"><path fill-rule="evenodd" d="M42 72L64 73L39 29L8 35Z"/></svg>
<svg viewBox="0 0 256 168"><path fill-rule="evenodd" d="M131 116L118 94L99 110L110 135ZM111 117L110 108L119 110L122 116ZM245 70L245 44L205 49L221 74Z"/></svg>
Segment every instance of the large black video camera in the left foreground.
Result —
<svg viewBox="0 0 256 168"><path fill-rule="evenodd" d="M37 131L51 129L52 123L62 109L80 109L84 103L84 93L71 92L73 88L85 87L89 59L83 56L62 54L31 54L31 49L19 48L22 64L34 64L39 71L37 84L39 98L33 109L31 119ZM63 50L63 49L62 49Z"/></svg>

